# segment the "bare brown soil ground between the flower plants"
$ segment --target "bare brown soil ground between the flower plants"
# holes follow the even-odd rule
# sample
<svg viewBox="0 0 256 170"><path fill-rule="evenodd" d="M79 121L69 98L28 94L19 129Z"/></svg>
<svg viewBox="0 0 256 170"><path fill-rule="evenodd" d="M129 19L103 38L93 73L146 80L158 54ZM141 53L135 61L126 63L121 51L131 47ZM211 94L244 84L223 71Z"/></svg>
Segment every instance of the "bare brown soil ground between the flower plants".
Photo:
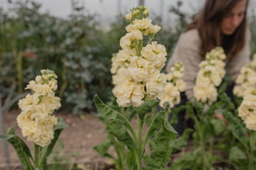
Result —
<svg viewBox="0 0 256 170"><path fill-rule="evenodd" d="M13 110L10 111L10 113L6 113L4 115L5 127L7 129L14 126L16 134L24 139L16 122L16 117L19 113L19 110ZM64 148L60 149L58 144L55 146L55 151L58 151L58 155L62 155L60 152L63 151L62 160L60 161L62 165L67 164L67 169L75 164L77 164L78 167L76 169L106 170L113 168L111 160L99 156L98 152L93 149L95 144L99 144L103 140L106 140L106 130L98 117L95 117L90 113L84 116L58 113L56 116L62 117L66 124L69 125L67 128L64 128L59 137L59 140L64 144ZM132 124L136 126L136 120L132 121ZM24 139L24 141L26 141L26 139ZM0 150L3 151L3 140L0 140L0 144ZM31 149L31 152L34 152L33 143L26 141L26 144ZM171 155L172 161L175 161L187 151L193 151L193 149L193 142L189 140L186 148L182 148L181 151ZM10 154L10 169L24 169L21 167L18 156L10 144L8 144L8 151ZM110 152L114 153L114 150L111 150L110 148ZM215 154L219 155L222 154L222 152L215 151ZM219 162L214 165L214 169L235 170L235 168L224 168L225 166L225 163ZM6 169L4 152L0 152L0 170L2 169Z"/></svg>

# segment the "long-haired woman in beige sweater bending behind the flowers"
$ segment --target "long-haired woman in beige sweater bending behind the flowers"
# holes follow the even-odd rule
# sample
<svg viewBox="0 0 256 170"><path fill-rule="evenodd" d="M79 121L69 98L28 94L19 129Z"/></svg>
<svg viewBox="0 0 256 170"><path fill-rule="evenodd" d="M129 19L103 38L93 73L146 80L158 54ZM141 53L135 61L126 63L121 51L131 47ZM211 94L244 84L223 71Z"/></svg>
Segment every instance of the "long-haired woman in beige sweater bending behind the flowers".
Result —
<svg viewBox="0 0 256 170"><path fill-rule="evenodd" d="M195 18L178 39L174 53L166 65L166 72L174 63L181 61L185 65L186 99L192 101L194 80L199 63L216 46L222 46L226 53L227 73L234 81L242 66L250 61L250 30L246 23L246 11L249 0L206 0L198 18ZM229 89L232 93L232 89ZM178 114L179 133L183 132L184 114ZM222 114L216 117L223 118Z"/></svg>

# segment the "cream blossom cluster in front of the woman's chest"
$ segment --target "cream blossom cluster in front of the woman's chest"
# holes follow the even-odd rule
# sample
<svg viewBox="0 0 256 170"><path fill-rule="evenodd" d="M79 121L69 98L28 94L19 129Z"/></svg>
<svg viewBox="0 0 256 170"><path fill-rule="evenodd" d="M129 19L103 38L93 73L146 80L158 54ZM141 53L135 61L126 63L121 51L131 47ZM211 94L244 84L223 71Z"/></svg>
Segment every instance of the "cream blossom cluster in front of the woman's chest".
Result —
<svg viewBox="0 0 256 170"><path fill-rule="evenodd" d="M194 86L194 97L198 101L210 103L217 100L217 87L226 74L225 59L222 47L215 47L206 53L206 60L200 62Z"/></svg>

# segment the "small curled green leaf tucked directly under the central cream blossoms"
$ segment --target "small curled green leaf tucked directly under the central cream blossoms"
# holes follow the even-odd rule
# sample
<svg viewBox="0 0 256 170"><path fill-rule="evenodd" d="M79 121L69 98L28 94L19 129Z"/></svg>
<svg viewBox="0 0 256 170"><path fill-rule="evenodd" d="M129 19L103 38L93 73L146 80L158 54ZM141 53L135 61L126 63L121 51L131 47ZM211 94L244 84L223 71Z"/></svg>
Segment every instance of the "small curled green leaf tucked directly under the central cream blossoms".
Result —
<svg viewBox="0 0 256 170"><path fill-rule="evenodd" d="M158 105L159 101L150 100L145 101L142 105L140 105L137 109L138 117L140 120L144 121L144 117L146 113L148 113L154 106Z"/></svg>

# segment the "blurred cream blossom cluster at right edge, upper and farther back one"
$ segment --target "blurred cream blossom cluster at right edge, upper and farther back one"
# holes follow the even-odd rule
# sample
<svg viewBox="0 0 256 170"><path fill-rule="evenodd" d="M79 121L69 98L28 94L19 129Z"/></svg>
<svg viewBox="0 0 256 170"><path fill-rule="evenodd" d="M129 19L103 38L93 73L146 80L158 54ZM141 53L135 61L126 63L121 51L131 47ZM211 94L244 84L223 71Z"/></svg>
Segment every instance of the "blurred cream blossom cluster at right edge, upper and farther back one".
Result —
<svg viewBox="0 0 256 170"><path fill-rule="evenodd" d="M244 97L254 89L254 85L249 81L250 77L256 77L256 54L254 54L253 60L240 70L233 89L234 95Z"/></svg>

